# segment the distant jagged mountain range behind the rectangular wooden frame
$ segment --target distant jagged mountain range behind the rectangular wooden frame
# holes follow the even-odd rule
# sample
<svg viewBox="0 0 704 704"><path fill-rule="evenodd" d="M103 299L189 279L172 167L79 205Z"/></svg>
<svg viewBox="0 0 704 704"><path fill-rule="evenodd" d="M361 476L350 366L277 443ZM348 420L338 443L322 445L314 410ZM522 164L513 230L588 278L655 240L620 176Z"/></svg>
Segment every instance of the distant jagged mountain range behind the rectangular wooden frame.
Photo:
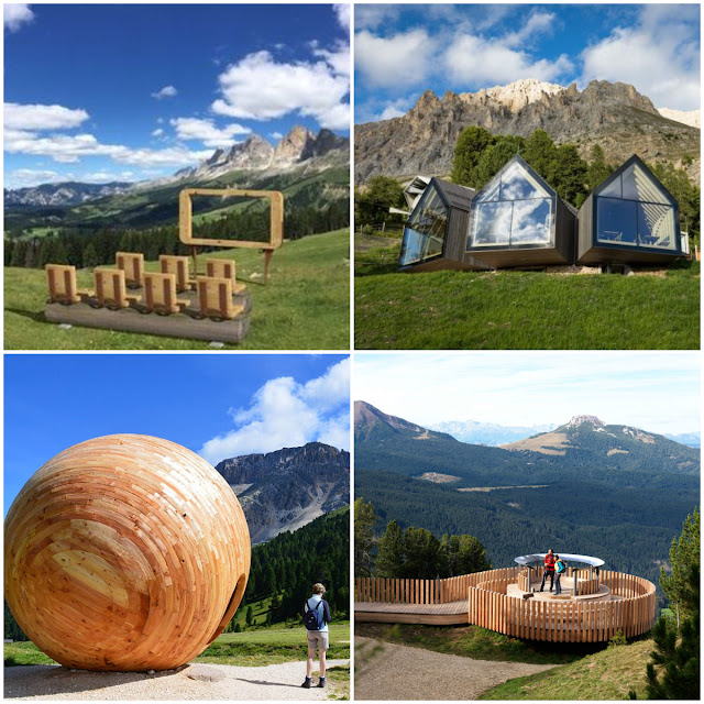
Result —
<svg viewBox="0 0 704 704"><path fill-rule="evenodd" d="M350 161L350 140L322 129L314 134L295 125L276 145L251 134L230 148L218 148L200 164L182 168L173 176L136 184L82 184L66 182L42 184L29 188L4 189L4 207L11 206L76 206L107 196L142 194L166 185L194 185L237 172L238 179L261 180L288 172L315 174L346 166ZM242 185L242 184L241 184Z"/></svg>

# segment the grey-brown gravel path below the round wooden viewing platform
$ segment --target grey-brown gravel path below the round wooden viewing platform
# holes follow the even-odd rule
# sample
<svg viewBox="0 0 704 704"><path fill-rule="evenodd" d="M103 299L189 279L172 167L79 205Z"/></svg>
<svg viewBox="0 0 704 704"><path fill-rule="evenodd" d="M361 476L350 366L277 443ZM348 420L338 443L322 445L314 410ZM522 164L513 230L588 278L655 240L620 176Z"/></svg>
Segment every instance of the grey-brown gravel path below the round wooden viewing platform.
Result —
<svg viewBox="0 0 704 704"><path fill-rule="evenodd" d="M506 680L554 667L472 660L359 637L354 662L355 700L475 700Z"/></svg>

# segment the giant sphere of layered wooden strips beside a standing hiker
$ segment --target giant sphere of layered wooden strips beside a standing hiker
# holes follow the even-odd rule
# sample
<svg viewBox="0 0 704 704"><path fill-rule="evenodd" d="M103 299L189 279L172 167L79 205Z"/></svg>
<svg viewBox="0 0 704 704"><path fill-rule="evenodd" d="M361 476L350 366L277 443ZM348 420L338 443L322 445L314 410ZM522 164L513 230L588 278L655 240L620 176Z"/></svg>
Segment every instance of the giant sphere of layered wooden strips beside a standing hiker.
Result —
<svg viewBox="0 0 704 704"><path fill-rule="evenodd" d="M208 462L160 438L107 436L57 454L14 499L6 597L66 667L166 670L222 631L250 557L242 508Z"/></svg>

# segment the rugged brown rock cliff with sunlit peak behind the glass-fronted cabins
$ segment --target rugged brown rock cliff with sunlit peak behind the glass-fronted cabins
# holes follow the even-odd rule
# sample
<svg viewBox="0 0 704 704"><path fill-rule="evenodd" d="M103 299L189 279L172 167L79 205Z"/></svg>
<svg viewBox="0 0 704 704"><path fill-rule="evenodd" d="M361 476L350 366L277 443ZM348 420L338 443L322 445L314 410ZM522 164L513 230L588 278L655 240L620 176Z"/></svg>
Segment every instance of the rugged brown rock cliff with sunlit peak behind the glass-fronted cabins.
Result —
<svg viewBox="0 0 704 704"><path fill-rule="evenodd" d="M520 136L541 129L557 143L576 144L583 157L600 144L607 161L618 164L631 154L675 165L690 157L686 170L698 178L700 131L664 118L632 86L593 80L580 91L575 84L521 80L442 98L428 90L400 118L356 125L355 182L377 174L449 174L458 135L470 125Z"/></svg>

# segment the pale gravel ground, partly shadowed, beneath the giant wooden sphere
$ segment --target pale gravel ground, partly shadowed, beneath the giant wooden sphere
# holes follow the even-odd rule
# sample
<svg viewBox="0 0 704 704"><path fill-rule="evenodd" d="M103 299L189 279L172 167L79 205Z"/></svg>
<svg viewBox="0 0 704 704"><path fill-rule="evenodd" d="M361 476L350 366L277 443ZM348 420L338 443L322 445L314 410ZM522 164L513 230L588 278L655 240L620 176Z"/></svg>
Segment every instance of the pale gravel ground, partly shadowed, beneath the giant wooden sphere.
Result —
<svg viewBox="0 0 704 704"><path fill-rule="evenodd" d="M328 667L349 660L328 660ZM187 676L188 667L156 674L138 672L88 672L59 666L34 664L4 668L4 697L22 700L326 700L342 694L343 685L329 684L304 690L305 662L285 662L263 668L230 664L198 666L224 674L219 682ZM213 673L217 676L217 673ZM317 678L314 676L314 685ZM344 685L346 688L346 683ZM349 692L348 692L349 695Z"/></svg>

